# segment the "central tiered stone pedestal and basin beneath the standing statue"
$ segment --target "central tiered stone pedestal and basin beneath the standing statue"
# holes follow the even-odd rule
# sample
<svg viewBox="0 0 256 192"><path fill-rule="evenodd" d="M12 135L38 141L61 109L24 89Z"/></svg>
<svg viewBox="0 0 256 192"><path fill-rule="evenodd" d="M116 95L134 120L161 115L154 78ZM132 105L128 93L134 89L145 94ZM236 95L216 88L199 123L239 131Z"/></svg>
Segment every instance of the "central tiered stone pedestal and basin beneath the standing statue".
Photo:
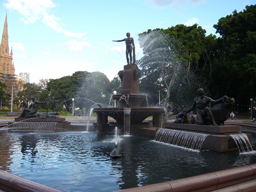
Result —
<svg viewBox="0 0 256 192"><path fill-rule="evenodd" d="M119 71L122 81L121 94L112 95L118 107L94 108L97 113L98 132L107 132L109 128L108 116L116 120L117 124L124 126L124 133L139 133L155 137L158 128L162 127L163 108L143 108L140 104L147 100L147 96L140 94L138 78L140 69L136 65L125 65L123 71ZM143 121L153 116L153 126Z"/></svg>

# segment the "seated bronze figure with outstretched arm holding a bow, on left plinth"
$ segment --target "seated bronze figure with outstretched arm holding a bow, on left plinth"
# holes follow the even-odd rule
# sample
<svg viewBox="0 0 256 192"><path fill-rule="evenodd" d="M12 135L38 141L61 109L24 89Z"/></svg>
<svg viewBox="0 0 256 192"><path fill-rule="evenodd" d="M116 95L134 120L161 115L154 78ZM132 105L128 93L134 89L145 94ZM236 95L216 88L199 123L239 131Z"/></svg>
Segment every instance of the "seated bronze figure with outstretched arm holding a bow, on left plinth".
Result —
<svg viewBox="0 0 256 192"><path fill-rule="evenodd" d="M39 113L37 113L38 106L37 104L47 104L46 102L39 102L35 100L35 97L31 97L32 103L28 108L28 103L24 100L23 101L23 110L19 117L25 117L25 118L31 118L31 117L38 117L40 116ZM32 108L32 109L31 109Z"/></svg>

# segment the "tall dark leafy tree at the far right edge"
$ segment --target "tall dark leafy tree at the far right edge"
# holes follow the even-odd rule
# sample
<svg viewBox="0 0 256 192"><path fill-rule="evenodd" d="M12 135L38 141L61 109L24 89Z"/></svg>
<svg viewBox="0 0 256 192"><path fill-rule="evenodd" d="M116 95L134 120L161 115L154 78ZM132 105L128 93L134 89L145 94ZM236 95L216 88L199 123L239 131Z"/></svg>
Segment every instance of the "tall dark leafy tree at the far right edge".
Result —
<svg viewBox="0 0 256 192"><path fill-rule="evenodd" d="M220 65L213 70L212 93L227 92L238 103L256 96L256 5L227 15L214 25L220 45Z"/></svg>

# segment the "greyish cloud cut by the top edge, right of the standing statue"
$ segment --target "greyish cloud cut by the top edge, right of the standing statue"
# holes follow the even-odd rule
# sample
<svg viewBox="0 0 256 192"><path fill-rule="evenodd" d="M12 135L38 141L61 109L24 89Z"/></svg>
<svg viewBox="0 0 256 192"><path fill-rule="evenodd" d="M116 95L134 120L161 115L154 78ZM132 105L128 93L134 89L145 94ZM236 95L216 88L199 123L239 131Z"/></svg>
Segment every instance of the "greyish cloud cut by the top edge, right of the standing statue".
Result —
<svg viewBox="0 0 256 192"><path fill-rule="evenodd" d="M187 3L197 5L204 1L205 0L151 0L154 6L161 9L164 9L168 6L171 6L171 7L185 6Z"/></svg>

